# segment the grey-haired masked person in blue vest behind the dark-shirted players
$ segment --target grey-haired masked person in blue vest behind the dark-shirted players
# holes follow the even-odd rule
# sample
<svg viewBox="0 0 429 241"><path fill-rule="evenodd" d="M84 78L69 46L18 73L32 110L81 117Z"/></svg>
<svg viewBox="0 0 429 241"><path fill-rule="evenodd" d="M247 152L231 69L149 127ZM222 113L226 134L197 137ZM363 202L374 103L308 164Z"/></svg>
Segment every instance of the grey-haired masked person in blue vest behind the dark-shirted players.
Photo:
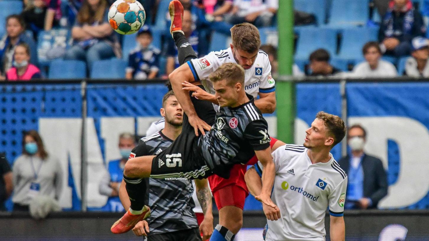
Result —
<svg viewBox="0 0 429 241"><path fill-rule="evenodd" d="M119 186L124 177L124 167L133 148L136 147L135 137L131 133L121 133L119 135L119 153L121 158L109 161L107 173L101 180L98 189L101 195L108 196L103 211L122 212L124 207L119 199Z"/></svg>

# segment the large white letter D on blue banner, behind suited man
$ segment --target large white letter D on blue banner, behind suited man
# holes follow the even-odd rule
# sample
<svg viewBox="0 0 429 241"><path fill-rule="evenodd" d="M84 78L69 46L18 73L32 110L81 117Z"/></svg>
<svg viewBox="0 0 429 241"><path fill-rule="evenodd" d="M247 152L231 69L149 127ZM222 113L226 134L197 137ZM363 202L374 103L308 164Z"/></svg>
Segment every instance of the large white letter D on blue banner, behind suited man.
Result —
<svg viewBox="0 0 429 241"><path fill-rule="evenodd" d="M349 125L353 124L365 127L368 133L365 152L381 158L385 169L387 140L392 139L399 146L399 177L389 186L389 193L378 204L380 208L406 207L426 196L429 131L423 124L408 117L350 117Z"/></svg>

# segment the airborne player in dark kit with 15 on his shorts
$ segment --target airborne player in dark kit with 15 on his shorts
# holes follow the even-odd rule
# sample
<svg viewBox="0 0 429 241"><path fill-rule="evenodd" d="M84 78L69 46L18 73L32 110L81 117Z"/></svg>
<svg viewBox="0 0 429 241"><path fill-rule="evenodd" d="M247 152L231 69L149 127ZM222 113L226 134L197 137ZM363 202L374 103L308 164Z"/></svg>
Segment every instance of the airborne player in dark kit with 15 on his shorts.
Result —
<svg viewBox="0 0 429 241"><path fill-rule="evenodd" d="M124 169L124 181L131 206L112 226L113 233L129 231L150 213L149 208L144 205L141 190L145 190L146 186L141 181L142 178L206 178L212 174L227 178L234 164L247 163L255 153L264 166L263 191L256 198L278 210L270 198L275 169L268 126L254 105L253 97L245 93L244 69L236 63L225 63L209 78L221 106L216 113L216 124L207 128L207 132L203 130L204 135L198 135L188 122L187 115L184 115L182 133L169 148L157 156L128 160ZM177 88L175 85L172 87L173 90ZM205 116L209 102L190 98L190 95L187 98L195 108L197 118L212 122L212 116ZM185 114L193 114L184 111ZM225 236L233 235L225 229L218 231Z"/></svg>

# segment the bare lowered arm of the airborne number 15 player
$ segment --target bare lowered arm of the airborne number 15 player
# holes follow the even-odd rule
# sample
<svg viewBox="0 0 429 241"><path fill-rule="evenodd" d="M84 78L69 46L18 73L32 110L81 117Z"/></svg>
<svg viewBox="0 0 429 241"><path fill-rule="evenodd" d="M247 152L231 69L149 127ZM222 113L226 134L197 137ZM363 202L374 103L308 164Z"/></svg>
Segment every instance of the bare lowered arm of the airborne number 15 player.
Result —
<svg viewBox="0 0 429 241"><path fill-rule="evenodd" d="M277 208L271 200L271 190L274 185L275 166L272 161L271 148L268 147L261 151L255 151L256 157L263 166L262 170L262 190L259 196L255 196L258 201L266 205Z"/></svg>

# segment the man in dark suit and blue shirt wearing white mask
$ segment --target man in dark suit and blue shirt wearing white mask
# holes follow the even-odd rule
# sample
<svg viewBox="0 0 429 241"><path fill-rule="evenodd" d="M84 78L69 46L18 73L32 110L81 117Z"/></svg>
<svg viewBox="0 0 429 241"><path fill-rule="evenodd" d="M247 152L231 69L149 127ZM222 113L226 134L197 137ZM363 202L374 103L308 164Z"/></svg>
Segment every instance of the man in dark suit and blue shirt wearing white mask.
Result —
<svg viewBox="0 0 429 241"><path fill-rule="evenodd" d="M347 196L344 208L377 208L387 195L387 174L381 160L363 151L366 130L360 125L349 127L347 142L351 152L338 162L347 172Z"/></svg>

